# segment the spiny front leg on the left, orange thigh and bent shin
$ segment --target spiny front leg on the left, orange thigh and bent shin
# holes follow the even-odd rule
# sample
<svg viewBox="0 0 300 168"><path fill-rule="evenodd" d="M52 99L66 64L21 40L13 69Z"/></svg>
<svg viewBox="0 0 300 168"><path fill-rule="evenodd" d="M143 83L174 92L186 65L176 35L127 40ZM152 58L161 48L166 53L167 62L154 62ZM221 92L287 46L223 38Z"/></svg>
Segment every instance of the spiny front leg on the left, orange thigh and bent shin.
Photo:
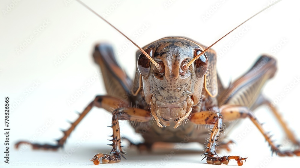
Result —
<svg viewBox="0 0 300 168"><path fill-rule="evenodd" d="M129 121L136 121L136 122L148 122L151 119L150 113L143 109L137 109L137 108L118 108L113 111L113 119L112 119L112 125L110 126L113 128L113 137L112 141L113 143L110 144L113 146L113 149L111 150L110 154L113 155L106 155L103 153L98 153L95 155L91 161L95 165L100 164L100 159L102 158L102 163L116 163L121 161L121 156L124 158L123 154L125 154L122 150L121 146L121 136L120 136L120 126L119 126L119 120L129 120Z"/></svg>

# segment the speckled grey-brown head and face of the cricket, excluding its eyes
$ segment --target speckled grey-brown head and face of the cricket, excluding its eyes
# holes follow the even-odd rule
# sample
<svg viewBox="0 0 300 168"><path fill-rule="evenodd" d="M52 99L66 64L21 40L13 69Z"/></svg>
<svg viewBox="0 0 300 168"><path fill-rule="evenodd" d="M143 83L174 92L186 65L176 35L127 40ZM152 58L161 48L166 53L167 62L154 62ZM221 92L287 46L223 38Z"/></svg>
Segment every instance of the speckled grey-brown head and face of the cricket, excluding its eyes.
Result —
<svg viewBox="0 0 300 168"><path fill-rule="evenodd" d="M197 79L194 64L187 71L182 69L182 65L203 49L181 37L162 38L146 48L152 49L152 58L162 66L159 71L151 65L149 76L143 77L146 102L151 105L152 115L159 126L169 126L168 122L172 120L179 126L189 115L191 107L199 102L204 82L204 77ZM202 61L208 64L206 56L202 57Z"/></svg>

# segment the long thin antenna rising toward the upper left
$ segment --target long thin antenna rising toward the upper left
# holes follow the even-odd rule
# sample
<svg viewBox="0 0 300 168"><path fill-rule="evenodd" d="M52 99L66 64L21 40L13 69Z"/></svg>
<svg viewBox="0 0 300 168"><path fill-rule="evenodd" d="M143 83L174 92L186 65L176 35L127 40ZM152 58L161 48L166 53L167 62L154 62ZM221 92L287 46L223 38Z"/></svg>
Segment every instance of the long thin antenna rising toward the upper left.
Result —
<svg viewBox="0 0 300 168"><path fill-rule="evenodd" d="M137 46L137 48L144 54L146 55L146 57L155 65L155 67L158 69L158 71L161 70L161 65L158 64L156 61L154 61L153 58L151 58L151 56L145 51L143 50L140 46L138 46L134 41L132 41L129 37L127 37L124 33L122 33L119 29L117 29L115 26L113 26L112 24L110 24L110 22L108 22L106 19L104 19L102 16L100 16L98 13L95 12L95 10L92 10L90 7L88 7L88 5L86 5L85 3L83 3L80 0L76 0L77 2L79 2L80 4L82 4L84 7L86 7L88 10L90 10L92 13L94 13L95 15L97 15L98 17L100 17L102 20L104 20L104 22L107 22L107 24L109 24L110 26L112 26L114 29L116 29L116 31L118 31L119 33L121 33L125 38L127 38L132 44L134 44L135 46Z"/></svg>

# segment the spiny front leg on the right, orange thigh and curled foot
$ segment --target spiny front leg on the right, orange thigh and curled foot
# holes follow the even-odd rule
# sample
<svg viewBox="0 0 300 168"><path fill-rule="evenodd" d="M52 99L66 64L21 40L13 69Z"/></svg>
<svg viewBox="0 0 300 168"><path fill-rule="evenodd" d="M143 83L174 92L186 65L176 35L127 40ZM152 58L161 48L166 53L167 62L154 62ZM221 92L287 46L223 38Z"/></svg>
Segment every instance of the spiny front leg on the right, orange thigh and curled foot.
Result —
<svg viewBox="0 0 300 168"><path fill-rule="evenodd" d="M234 159L238 162L238 166L243 165L243 160L246 161L247 158L240 156L217 156L217 141L219 140L220 132L223 131L223 117L220 113L212 111L193 113L190 117L190 121L194 124L214 125L214 128L211 130L211 136L207 142L206 151L202 154L205 155L204 158L206 158L208 164L228 164L229 160Z"/></svg>

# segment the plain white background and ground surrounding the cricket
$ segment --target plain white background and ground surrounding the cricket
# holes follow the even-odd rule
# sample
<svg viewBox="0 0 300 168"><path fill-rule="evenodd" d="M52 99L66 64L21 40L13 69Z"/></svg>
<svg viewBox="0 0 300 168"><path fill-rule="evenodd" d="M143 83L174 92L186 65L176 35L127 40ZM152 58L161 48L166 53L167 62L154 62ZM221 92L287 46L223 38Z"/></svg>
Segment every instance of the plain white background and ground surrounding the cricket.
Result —
<svg viewBox="0 0 300 168"><path fill-rule="evenodd" d="M85 1L100 14L105 13L107 8L115 2ZM168 2L172 4L166 8L164 3ZM121 1L121 4L106 19L140 46L166 36L186 36L204 45L210 45L249 16L267 6L268 2L271 0ZM1 10L5 10L6 5L10 3L12 3L10 0L1 1ZM220 3L220 7L203 21L202 16L216 3ZM220 56L217 68L225 85L230 79L235 79L248 70L260 54L274 55L278 60L278 71L274 79L265 86L264 93L271 100L284 94L277 107L298 138L300 131L296 124L300 116L298 110L300 87L296 84L289 93L286 93L285 87L290 85L295 77L300 76L299 5L300 2L296 0L281 1L247 22L244 26L250 29L238 41L235 41L234 36L241 32L243 27L213 47ZM23 146L24 152L20 153L13 149L13 144L18 140L29 140L34 135L37 136L36 143L53 144L54 139L60 138L62 133L58 130L69 127L66 120L76 119L77 115L74 111L82 111L95 95L105 94L101 78L96 79L89 87L85 85L85 82L91 80L98 71L91 57L95 44L107 41L118 51L127 43L127 40L74 0L67 5L64 1L58 0L20 1L6 16L2 13L0 19L1 98L9 96L10 106L20 97L24 98L14 110L10 111L9 167L91 166L92 163L88 159L93 155L98 152L110 152L110 147L106 146L109 143L106 136L110 134L111 128L106 126L110 125L111 116L102 109L93 109L71 134L65 148L58 152L32 151ZM50 23L37 35L34 31L43 24L44 20ZM137 38L134 33L147 23L150 25L149 28ZM88 34L88 37L74 49L73 41L78 40L84 32ZM20 43L24 43L24 39L31 35L34 36L34 40L17 54L16 48L19 48ZM284 38L288 42L278 52L273 53L271 49L280 44L281 39ZM234 45L224 55L220 55L224 45L229 44L230 41ZM73 52L55 67L54 61L57 61L68 48L72 48ZM131 44L125 52L117 56L119 63L131 77L135 71L136 50L137 48ZM24 94L24 91L30 89L35 81L40 83L38 87L28 95ZM70 100L72 95L76 94L76 90L81 87L85 87L86 90L73 104L69 105L67 100ZM256 114L259 121L267 123L264 128L272 131L275 134L274 139L281 142L282 130L270 113L265 108L261 108ZM45 127L47 120L54 123ZM43 126L45 131L39 134L37 130ZM252 128L246 133L246 128L249 126ZM123 136L131 137L136 141L140 140L140 137L134 134L126 123L121 124L121 127ZM88 131L92 135L84 139L84 143L76 148L76 141L81 140ZM242 136L239 137L239 135ZM295 159L299 160L299 158L277 158L276 156L268 161L266 157L270 157L270 152L267 144L248 119L232 132L231 138L237 144L232 152L226 152L226 154L247 156L244 167L261 167L261 163L266 163L265 167L292 166ZM3 140L4 137L1 136L0 141ZM287 144L290 145L290 143ZM3 143L0 147L1 152L4 150ZM76 148L76 151L69 159L61 163L61 157L71 148ZM196 149L201 151L202 146L197 146ZM205 161L200 161L202 157L195 153L178 153L169 161L161 163L161 159L166 158L165 154L168 152L139 155L135 149L131 149L127 161L122 160L121 163L105 166L216 167L216 165L207 165ZM219 154L224 155L223 152ZM7 164L3 165L3 153L0 158L2 158L1 167L7 167ZM236 165L236 162L231 161L230 164Z"/></svg>

